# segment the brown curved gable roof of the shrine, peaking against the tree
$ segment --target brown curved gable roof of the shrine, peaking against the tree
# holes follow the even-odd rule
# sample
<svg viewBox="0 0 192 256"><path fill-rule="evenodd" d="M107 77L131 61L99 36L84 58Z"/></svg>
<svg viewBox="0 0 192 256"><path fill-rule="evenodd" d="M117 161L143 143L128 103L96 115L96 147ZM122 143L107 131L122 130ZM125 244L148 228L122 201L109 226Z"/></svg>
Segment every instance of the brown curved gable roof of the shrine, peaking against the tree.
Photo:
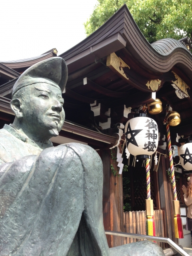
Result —
<svg viewBox="0 0 192 256"><path fill-rule="evenodd" d="M192 54L186 46L172 38L150 44L138 28L126 4L100 28L70 50L60 54L60 57L66 60L69 71L73 71L77 68L76 62L79 64L78 60L88 55L88 50L90 55L94 54L98 58L107 56L109 54L107 50L101 53L102 48L98 47L98 52L94 53L92 48L101 43L104 46L106 40L117 33L119 33L119 38L122 36L121 42L122 39L126 42L122 42L121 46L114 46L114 52L124 48L126 44L126 49L148 70L156 73L168 72L174 65L178 65L192 78ZM100 54L98 54L99 51ZM87 64L90 63L86 59L84 66Z"/></svg>

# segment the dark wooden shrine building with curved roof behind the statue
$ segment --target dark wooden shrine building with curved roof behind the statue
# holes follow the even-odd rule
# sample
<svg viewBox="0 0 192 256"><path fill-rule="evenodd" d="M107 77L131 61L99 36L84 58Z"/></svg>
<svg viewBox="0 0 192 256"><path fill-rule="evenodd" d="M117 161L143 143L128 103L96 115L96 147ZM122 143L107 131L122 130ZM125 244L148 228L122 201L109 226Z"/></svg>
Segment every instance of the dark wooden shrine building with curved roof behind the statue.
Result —
<svg viewBox="0 0 192 256"><path fill-rule="evenodd" d="M192 135L191 49L187 37L179 41L166 38L150 44L124 5L94 33L60 54L68 66L68 82L63 93L66 121L59 136L51 141L54 146L68 142L87 144L100 155L105 230L145 234L146 170L142 161L133 156L126 158L124 126L138 111L147 111L148 117L158 125L157 153L151 156L150 165L156 236L168 237L184 247L190 241L190 232L185 230L183 240L174 235L173 192L163 122L167 105L180 114L180 124L170 126L170 137L177 197L181 215L186 216L182 185L186 185L188 172L179 162L178 149ZM0 128L14 120L11 92L20 74L57 53L53 48L33 58L0 61ZM162 102L162 112L150 114L147 104L156 98ZM123 157L120 164L119 154ZM119 174L121 166L122 174ZM185 228L186 217L182 221ZM135 238L110 235L107 240L110 247L136 242Z"/></svg>

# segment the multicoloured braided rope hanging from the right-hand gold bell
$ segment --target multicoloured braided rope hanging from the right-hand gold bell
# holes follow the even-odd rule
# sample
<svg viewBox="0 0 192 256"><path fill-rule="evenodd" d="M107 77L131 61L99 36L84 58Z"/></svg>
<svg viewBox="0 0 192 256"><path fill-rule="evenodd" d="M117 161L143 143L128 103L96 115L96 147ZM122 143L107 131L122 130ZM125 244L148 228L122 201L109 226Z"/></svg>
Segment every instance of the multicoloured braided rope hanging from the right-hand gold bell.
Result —
<svg viewBox="0 0 192 256"><path fill-rule="evenodd" d="M166 130L167 130L167 142L168 142L168 150L169 150L169 161L170 161L170 168L171 168L172 188L173 188L174 200L177 200L175 173L173 168L173 158L172 158L172 150L171 150L170 130L169 130L168 124L166 124Z"/></svg>

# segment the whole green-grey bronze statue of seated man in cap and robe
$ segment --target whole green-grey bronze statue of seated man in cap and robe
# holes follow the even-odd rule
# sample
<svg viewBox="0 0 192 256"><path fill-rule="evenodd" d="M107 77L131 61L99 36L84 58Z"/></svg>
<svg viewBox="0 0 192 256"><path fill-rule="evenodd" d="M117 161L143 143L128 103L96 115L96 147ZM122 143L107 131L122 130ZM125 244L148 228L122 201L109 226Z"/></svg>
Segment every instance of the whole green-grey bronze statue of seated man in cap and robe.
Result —
<svg viewBox="0 0 192 256"><path fill-rule="evenodd" d="M13 87L15 120L0 130L0 255L163 255L146 241L109 249L100 157L82 144L53 147L67 76L65 61L54 57L28 68Z"/></svg>

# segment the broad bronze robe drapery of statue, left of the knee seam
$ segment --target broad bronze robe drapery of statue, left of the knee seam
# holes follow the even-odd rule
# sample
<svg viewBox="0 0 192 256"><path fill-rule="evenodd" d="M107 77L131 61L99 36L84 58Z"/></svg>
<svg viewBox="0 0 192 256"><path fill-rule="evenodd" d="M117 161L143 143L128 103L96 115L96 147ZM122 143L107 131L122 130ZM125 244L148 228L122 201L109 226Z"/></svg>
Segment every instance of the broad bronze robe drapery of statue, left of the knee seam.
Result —
<svg viewBox="0 0 192 256"><path fill-rule="evenodd" d="M0 256L66 256L83 212L82 164L68 146L0 166Z"/></svg>

